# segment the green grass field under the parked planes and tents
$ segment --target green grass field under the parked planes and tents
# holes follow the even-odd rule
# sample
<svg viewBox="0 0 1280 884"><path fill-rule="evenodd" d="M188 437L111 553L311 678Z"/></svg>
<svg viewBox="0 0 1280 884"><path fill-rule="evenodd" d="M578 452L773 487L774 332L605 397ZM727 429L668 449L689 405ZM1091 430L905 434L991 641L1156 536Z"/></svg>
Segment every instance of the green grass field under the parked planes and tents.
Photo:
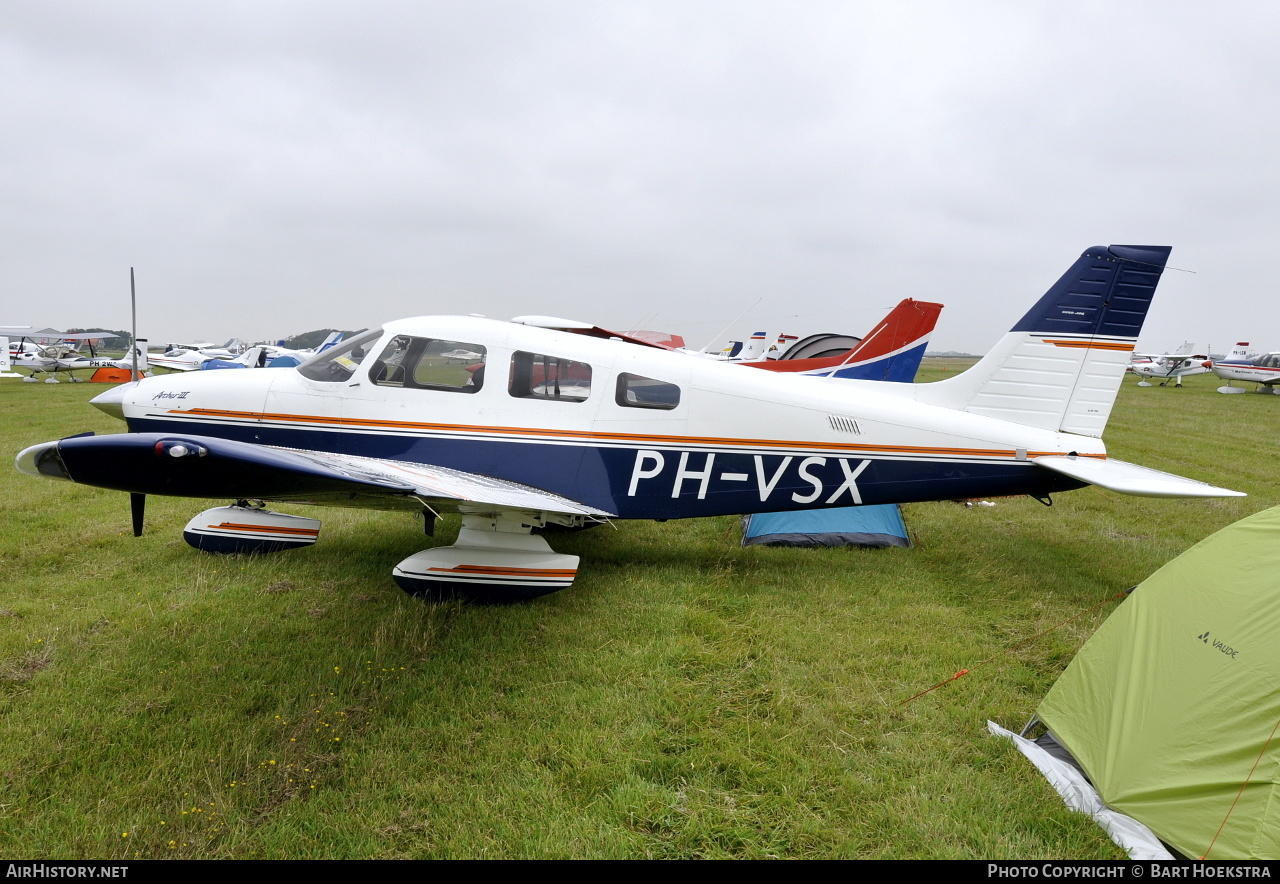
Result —
<svg viewBox="0 0 1280 884"><path fill-rule="evenodd" d="M1108 446L1248 498L913 504L916 546L878 551L625 522L557 537L577 583L506 608L404 596L403 516L282 507L315 548L216 558L180 537L214 504L152 498L134 539L125 495L9 466L122 430L102 388L3 384L0 853L1119 857L984 723L1019 729L1117 591L1280 503L1280 398L1219 383L1126 380Z"/></svg>

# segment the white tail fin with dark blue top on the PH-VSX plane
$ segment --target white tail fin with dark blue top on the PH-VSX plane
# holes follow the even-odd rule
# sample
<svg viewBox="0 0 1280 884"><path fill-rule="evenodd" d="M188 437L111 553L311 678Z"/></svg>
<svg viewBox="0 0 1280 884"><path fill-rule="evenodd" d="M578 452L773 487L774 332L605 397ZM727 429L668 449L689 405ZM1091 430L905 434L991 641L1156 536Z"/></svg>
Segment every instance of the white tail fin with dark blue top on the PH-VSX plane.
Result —
<svg viewBox="0 0 1280 884"><path fill-rule="evenodd" d="M919 402L1101 436L1169 246L1094 246L973 368Z"/></svg>

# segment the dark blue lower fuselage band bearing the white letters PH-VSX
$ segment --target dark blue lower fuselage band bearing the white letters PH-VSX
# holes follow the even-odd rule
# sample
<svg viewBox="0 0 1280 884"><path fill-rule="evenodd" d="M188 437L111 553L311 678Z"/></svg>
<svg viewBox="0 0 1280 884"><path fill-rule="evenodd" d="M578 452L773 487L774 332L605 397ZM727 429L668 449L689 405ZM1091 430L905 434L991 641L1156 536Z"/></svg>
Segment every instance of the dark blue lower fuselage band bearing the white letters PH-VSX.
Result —
<svg viewBox="0 0 1280 884"><path fill-rule="evenodd" d="M849 507L859 501L1042 496L1084 486L1012 458L972 463L954 458L877 458L858 453L805 457L701 449L652 452L643 445L440 439L172 420L133 420L129 429L449 467L543 489L617 513L618 518L691 518ZM869 463L863 466L864 461ZM680 489L675 494L677 482ZM630 493L632 485L634 494ZM855 491L860 500L855 500Z"/></svg>

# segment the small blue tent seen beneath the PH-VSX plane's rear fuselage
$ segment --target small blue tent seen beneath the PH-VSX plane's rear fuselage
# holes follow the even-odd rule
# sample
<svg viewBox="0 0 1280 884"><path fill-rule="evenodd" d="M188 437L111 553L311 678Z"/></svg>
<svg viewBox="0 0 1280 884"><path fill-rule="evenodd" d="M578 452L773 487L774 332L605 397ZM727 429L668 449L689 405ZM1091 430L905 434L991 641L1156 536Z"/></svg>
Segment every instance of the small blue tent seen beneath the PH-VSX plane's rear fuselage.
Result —
<svg viewBox="0 0 1280 884"><path fill-rule="evenodd" d="M742 518L742 546L910 546L897 504L754 513Z"/></svg>

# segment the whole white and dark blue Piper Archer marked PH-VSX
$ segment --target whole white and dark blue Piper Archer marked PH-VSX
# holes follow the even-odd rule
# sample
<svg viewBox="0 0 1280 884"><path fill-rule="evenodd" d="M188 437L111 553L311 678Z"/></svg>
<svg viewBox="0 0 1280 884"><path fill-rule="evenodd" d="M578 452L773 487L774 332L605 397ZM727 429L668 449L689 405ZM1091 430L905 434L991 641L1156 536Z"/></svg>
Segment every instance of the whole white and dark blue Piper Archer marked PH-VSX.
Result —
<svg viewBox="0 0 1280 884"><path fill-rule="evenodd" d="M461 513L451 546L393 571L479 600L568 586L577 556L531 530L623 518L951 500L1101 485L1236 491L1108 459L1107 422L1170 249L1087 249L969 371L934 384L797 377L470 316L399 320L297 368L151 377L93 399L129 432L72 436L26 473L237 500L184 531L216 551L315 542L261 501ZM462 366L466 349L477 362ZM488 372L486 368L493 367ZM251 504L250 501L255 501Z"/></svg>

